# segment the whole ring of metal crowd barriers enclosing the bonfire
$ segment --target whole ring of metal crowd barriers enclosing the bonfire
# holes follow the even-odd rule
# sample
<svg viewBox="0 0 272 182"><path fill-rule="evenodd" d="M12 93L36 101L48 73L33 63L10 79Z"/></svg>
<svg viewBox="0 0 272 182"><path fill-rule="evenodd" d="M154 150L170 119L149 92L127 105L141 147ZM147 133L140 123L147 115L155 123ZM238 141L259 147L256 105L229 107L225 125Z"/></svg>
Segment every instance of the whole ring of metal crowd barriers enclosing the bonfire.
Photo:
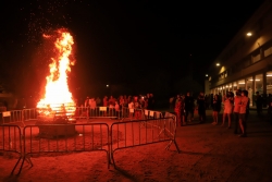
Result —
<svg viewBox="0 0 272 182"><path fill-rule="evenodd" d="M21 114L22 118L18 121L37 118L35 109L21 113L11 111L11 113L13 117L16 113ZM106 113L109 113L108 108ZM174 114L165 112L163 117L159 111L128 108L123 108L121 113L121 118L126 118L128 121L119 120L113 122L111 128L107 123L36 124L23 128L0 125L0 151L18 154L20 158L12 174L21 160L17 174L21 173L25 161L33 166L30 156L49 153L106 151L108 168L111 162L115 168L114 153L124 148L169 142L165 149L174 143L180 153L175 141L176 117ZM12 118L11 116L9 117Z"/></svg>

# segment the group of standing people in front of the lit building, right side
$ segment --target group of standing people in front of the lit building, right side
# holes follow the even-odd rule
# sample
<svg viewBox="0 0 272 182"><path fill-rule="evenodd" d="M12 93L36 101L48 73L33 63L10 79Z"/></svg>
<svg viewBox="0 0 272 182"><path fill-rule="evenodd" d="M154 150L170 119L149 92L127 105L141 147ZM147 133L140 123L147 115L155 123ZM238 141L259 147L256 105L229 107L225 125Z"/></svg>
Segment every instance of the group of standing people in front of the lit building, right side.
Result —
<svg viewBox="0 0 272 182"><path fill-rule="evenodd" d="M257 114L261 117L263 99L259 92L256 92L254 98ZM271 98L268 99L268 120L272 123L272 96L268 98ZM235 94L227 92L223 96L219 94L205 96L203 93L199 93L197 99L194 99L188 92L186 95L177 95L176 98L172 98L170 101L174 101L174 112L181 125L191 122L194 114L199 116L199 123L206 122L206 110L211 109L213 125L219 125L220 121L222 121L220 125L225 126L225 123L227 123L226 129L232 129L232 121L234 121L234 134L239 134L240 137L247 136L247 119L250 105L247 90L237 89ZM222 120L219 119L221 111Z"/></svg>

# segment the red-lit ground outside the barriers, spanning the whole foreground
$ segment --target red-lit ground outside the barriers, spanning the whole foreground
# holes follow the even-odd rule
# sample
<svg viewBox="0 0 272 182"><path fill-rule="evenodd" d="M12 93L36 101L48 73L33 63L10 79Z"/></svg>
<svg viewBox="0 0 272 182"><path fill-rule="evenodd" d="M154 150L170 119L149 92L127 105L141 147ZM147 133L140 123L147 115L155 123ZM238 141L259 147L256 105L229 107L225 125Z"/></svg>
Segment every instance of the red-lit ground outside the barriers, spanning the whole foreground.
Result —
<svg viewBox="0 0 272 182"><path fill-rule="evenodd" d="M133 147L116 153L118 170L107 169L104 154L84 153L33 158L35 166L24 167L18 178L9 178L16 161L0 156L0 181L272 181L272 125L250 111L248 137L238 137L233 129L198 124L197 118L178 126L176 143ZM220 116L220 123L221 123ZM95 155L94 155L95 154ZM91 161L91 162L86 162Z"/></svg>

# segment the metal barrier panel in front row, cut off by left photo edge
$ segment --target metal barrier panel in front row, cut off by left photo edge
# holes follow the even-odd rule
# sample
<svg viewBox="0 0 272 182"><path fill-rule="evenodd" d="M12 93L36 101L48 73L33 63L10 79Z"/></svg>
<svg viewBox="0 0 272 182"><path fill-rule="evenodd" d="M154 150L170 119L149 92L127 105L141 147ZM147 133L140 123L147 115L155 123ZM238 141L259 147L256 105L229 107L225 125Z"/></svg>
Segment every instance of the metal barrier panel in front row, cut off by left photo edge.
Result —
<svg viewBox="0 0 272 182"><path fill-rule="evenodd" d="M18 159L11 172L11 174L13 174L16 166L23 157L21 129L17 125L0 125L0 151L18 155Z"/></svg>

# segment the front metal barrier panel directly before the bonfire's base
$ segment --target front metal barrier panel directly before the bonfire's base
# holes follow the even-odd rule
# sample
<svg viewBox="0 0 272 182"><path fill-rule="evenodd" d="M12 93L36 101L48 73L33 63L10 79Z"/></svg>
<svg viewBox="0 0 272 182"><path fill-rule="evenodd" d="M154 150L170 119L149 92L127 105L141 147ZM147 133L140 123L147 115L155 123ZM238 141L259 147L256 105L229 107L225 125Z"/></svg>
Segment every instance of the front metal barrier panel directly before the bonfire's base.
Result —
<svg viewBox="0 0 272 182"><path fill-rule="evenodd" d="M25 160L33 166L30 156L48 153L102 150L107 153L110 167L109 125L106 123L26 125L23 131L24 155L18 174Z"/></svg>

